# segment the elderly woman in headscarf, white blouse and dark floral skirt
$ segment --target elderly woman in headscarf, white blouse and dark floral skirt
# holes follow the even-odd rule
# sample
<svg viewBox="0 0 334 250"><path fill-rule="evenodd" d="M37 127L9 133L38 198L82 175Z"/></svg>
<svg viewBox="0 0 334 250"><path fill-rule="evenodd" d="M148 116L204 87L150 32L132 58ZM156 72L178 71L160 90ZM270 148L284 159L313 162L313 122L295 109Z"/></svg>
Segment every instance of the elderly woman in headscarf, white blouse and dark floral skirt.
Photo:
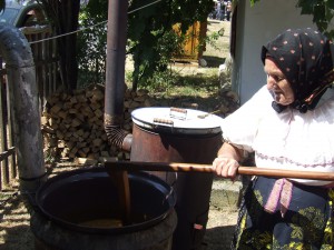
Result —
<svg viewBox="0 0 334 250"><path fill-rule="evenodd" d="M262 48L266 87L224 120L213 162L235 179L246 152L257 168L334 172L331 42L287 30ZM245 190L233 249L333 249L334 182L255 177Z"/></svg>

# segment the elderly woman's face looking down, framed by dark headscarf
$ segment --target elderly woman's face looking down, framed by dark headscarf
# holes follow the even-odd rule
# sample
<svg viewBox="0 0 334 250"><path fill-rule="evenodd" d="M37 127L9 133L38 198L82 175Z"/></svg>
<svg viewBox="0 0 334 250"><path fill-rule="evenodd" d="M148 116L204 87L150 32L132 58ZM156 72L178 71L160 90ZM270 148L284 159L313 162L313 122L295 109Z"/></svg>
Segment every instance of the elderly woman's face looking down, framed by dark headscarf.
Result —
<svg viewBox="0 0 334 250"><path fill-rule="evenodd" d="M274 100L282 106L288 106L293 103L295 100L295 94L289 82L285 79L285 76L278 69L276 63L266 58L264 71L267 74L267 89L273 94Z"/></svg>

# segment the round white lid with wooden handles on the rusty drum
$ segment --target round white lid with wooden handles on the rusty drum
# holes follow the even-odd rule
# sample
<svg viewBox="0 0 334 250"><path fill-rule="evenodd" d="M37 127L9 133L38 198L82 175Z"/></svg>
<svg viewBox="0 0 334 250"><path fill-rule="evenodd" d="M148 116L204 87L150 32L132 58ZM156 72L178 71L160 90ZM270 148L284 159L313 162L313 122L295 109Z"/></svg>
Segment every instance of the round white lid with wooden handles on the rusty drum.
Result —
<svg viewBox="0 0 334 250"><path fill-rule="evenodd" d="M168 107L139 108L131 118L141 128L193 134L218 133L224 120L200 110Z"/></svg>

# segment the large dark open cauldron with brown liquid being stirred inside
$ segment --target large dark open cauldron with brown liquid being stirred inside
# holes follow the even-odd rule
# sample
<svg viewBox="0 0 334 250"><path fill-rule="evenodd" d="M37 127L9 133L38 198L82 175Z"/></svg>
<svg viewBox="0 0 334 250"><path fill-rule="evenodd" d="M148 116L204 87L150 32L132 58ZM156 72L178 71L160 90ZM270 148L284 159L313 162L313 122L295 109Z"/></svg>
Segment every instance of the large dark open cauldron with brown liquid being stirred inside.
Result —
<svg viewBox="0 0 334 250"><path fill-rule="evenodd" d="M37 192L36 250L169 250L177 217L169 184L129 173L131 222L121 224L117 187L102 168L69 171Z"/></svg>

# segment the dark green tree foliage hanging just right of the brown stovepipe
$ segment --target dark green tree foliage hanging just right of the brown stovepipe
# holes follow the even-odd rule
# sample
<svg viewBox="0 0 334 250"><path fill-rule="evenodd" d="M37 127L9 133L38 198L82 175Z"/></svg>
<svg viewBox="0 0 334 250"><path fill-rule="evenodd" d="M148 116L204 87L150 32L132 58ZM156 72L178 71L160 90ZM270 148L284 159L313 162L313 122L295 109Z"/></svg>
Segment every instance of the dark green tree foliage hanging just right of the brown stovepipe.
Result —
<svg viewBox="0 0 334 250"><path fill-rule="evenodd" d="M180 49L181 37L173 31L180 23L185 32L195 21L206 21L214 8L213 0L166 0L149 4L151 0L132 0L129 6L128 38L134 56L132 89L138 82L146 82L156 71L166 70L173 53Z"/></svg>

